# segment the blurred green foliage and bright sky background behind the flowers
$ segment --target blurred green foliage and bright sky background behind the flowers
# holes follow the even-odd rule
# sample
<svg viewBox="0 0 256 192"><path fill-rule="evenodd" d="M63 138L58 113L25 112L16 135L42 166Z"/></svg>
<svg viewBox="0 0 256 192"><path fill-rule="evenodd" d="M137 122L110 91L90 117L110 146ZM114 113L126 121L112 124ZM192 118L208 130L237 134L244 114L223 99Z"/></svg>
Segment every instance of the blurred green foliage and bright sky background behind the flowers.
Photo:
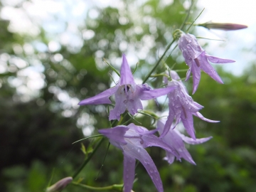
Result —
<svg viewBox="0 0 256 192"><path fill-rule="evenodd" d="M118 79L103 58L119 69L125 53L132 69L139 63L134 77L142 82L172 40L173 31L181 26L189 6L190 1L184 0L1 0L0 191L44 191L52 175L53 183L72 176L97 139L72 143L109 127L107 105L78 106L80 100L113 86L111 76ZM201 113L220 123L194 118L196 137L213 136L206 144L188 146L197 166L186 161L168 165L162 160L164 151L154 147L148 151L165 191L256 191L255 2L198 1L188 22L203 8L196 23L249 26L228 32L191 28L195 36L225 40L200 39L210 55L237 61L214 65L224 85L202 73L193 95L205 107ZM178 49L166 63L187 69ZM159 67L156 73L163 71ZM179 75L184 78L186 73ZM147 83L163 85L161 78L150 78ZM191 81L186 85L191 94ZM154 101L143 104L166 114L164 100L159 98L159 107ZM154 128L149 117L138 115L137 120ZM107 141L80 173L82 183L122 183L123 156L113 146L97 177L106 150ZM141 164L136 174L134 191L156 191ZM63 191L87 190L70 185Z"/></svg>

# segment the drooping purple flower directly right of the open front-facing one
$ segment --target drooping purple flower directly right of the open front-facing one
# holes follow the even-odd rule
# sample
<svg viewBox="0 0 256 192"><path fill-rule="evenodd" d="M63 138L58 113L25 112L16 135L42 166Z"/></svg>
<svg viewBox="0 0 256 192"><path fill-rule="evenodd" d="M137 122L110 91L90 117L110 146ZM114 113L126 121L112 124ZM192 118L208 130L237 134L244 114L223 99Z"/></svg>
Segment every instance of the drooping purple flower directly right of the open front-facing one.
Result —
<svg viewBox="0 0 256 192"><path fill-rule="evenodd" d="M176 87L176 89L167 95L169 98L169 116L164 126L164 131L160 137L164 137L167 132L169 132L169 129L174 129L179 122L182 122L190 137L196 139L195 130L193 128L193 115L206 122L219 121L206 119L200 112L198 112L203 109L203 106L194 102L192 97L188 95L185 85L183 85L183 82L180 80L181 78L174 70L171 70L171 78L171 82L168 82L167 78L164 78L164 81L166 84L168 83L167 87ZM171 127L174 119L176 119L176 123Z"/></svg>

